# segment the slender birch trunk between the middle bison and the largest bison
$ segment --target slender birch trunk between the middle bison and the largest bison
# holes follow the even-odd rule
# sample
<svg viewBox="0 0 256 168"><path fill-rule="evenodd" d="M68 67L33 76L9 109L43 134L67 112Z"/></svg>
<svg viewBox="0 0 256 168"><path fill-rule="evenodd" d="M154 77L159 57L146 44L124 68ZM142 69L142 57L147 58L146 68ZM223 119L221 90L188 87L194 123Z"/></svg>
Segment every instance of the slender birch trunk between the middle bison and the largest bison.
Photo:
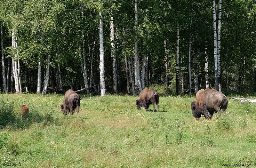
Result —
<svg viewBox="0 0 256 168"><path fill-rule="evenodd" d="M179 12L178 12L179 16ZM176 94L180 94L180 24L177 23L177 34L176 34Z"/></svg>

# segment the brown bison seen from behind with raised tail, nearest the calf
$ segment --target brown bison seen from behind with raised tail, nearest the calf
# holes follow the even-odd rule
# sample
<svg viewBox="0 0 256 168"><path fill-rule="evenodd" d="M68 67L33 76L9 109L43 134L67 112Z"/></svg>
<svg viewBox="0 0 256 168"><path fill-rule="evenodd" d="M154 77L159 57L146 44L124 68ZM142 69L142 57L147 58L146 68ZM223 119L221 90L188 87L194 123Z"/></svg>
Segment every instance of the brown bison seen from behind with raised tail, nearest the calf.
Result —
<svg viewBox="0 0 256 168"><path fill-rule="evenodd" d="M76 108L76 114L78 114L81 99L81 96L79 96L77 93L69 89L65 93L63 104L60 105L62 113L64 115L67 115L69 111L70 114L73 115Z"/></svg>

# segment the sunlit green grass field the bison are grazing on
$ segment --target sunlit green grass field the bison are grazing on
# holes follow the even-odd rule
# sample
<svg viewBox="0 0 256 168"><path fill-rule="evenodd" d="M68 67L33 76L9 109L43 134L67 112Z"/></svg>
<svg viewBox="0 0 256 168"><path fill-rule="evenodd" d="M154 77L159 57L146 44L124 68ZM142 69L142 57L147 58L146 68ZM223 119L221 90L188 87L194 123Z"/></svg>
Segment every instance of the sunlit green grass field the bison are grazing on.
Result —
<svg viewBox="0 0 256 168"><path fill-rule="evenodd" d="M1 112L15 115L0 128L0 167L256 167L255 103L229 99L226 113L196 121L195 96L160 95L159 113L137 110L139 97L80 96L79 115L63 116L63 94L0 94Z"/></svg>

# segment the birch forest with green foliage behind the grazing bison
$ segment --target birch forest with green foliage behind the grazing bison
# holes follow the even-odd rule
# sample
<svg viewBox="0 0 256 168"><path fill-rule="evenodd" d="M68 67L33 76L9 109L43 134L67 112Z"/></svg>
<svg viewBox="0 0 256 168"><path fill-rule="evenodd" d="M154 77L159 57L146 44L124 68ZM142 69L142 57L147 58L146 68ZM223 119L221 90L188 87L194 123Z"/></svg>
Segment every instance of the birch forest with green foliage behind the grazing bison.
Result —
<svg viewBox="0 0 256 168"><path fill-rule="evenodd" d="M256 0L0 0L1 92L256 92Z"/></svg>

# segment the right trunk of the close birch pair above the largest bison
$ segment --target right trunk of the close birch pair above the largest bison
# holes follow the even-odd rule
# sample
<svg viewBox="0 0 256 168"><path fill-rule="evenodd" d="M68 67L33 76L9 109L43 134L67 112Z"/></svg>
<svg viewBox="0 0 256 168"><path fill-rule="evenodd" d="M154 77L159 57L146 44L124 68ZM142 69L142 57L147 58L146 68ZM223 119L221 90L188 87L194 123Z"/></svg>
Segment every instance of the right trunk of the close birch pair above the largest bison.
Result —
<svg viewBox="0 0 256 168"><path fill-rule="evenodd" d="M221 31L221 0L219 0L219 18L218 18L218 29L217 29L217 71L218 71L218 84L219 92L221 92L220 86L220 31Z"/></svg>

